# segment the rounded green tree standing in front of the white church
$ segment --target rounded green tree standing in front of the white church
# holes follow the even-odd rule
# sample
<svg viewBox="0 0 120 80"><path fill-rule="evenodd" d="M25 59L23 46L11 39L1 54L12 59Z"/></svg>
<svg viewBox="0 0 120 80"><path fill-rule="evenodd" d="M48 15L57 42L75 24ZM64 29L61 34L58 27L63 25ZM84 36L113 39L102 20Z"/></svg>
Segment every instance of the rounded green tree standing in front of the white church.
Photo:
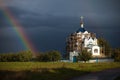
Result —
<svg viewBox="0 0 120 80"><path fill-rule="evenodd" d="M78 59L82 60L84 62L90 60L91 58L92 58L92 54L90 52L88 52L86 49L82 50L78 56Z"/></svg>

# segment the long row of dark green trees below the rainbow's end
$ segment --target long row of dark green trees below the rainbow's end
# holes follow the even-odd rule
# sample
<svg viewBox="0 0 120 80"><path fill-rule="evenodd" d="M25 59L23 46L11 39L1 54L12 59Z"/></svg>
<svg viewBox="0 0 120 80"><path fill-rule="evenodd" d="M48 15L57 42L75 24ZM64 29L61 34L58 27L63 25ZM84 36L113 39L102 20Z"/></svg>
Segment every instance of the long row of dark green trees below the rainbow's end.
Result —
<svg viewBox="0 0 120 80"><path fill-rule="evenodd" d="M28 61L58 61L61 54L58 51L48 51L45 53L37 53L33 56L31 51L21 51L18 53L0 54L0 62L28 62Z"/></svg>

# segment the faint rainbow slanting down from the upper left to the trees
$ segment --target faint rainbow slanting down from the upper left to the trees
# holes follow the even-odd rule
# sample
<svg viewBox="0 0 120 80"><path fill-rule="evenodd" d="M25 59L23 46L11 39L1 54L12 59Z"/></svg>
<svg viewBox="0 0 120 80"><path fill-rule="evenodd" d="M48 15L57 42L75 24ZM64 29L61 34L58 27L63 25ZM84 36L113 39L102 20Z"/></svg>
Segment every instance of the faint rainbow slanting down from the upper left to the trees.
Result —
<svg viewBox="0 0 120 80"><path fill-rule="evenodd" d="M0 2L0 5L2 2ZM19 24L19 22L15 19L15 17L12 15L12 12L7 8L0 6L0 9L2 9L2 12L6 18L6 20L9 22L9 24L13 27L14 31L18 35L19 39L21 40L23 46L26 50L30 50L33 54L35 54L37 51L34 48L33 44L27 37L25 31L23 30L22 26Z"/></svg>

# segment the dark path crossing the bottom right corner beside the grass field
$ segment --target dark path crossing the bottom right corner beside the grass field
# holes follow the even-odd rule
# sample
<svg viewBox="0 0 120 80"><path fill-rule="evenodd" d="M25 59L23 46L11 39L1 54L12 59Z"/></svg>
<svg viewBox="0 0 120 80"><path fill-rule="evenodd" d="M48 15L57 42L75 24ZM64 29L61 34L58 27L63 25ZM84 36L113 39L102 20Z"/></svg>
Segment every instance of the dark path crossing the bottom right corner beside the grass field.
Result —
<svg viewBox="0 0 120 80"><path fill-rule="evenodd" d="M120 76L120 68L93 72L72 80L114 80L117 76Z"/></svg>

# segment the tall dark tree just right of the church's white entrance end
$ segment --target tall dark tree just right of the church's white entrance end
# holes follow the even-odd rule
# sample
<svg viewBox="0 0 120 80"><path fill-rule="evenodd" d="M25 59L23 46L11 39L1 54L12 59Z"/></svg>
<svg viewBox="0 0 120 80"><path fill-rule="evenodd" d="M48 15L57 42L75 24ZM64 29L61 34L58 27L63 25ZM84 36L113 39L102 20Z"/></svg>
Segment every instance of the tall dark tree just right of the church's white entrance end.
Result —
<svg viewBox="0 0 120 80"><path fill-rule="evenodd" d="M104 53L106 56L111 56L111 47L108 41L102 37L98 38L98 45L102 47L102 53Z"/></svg>

